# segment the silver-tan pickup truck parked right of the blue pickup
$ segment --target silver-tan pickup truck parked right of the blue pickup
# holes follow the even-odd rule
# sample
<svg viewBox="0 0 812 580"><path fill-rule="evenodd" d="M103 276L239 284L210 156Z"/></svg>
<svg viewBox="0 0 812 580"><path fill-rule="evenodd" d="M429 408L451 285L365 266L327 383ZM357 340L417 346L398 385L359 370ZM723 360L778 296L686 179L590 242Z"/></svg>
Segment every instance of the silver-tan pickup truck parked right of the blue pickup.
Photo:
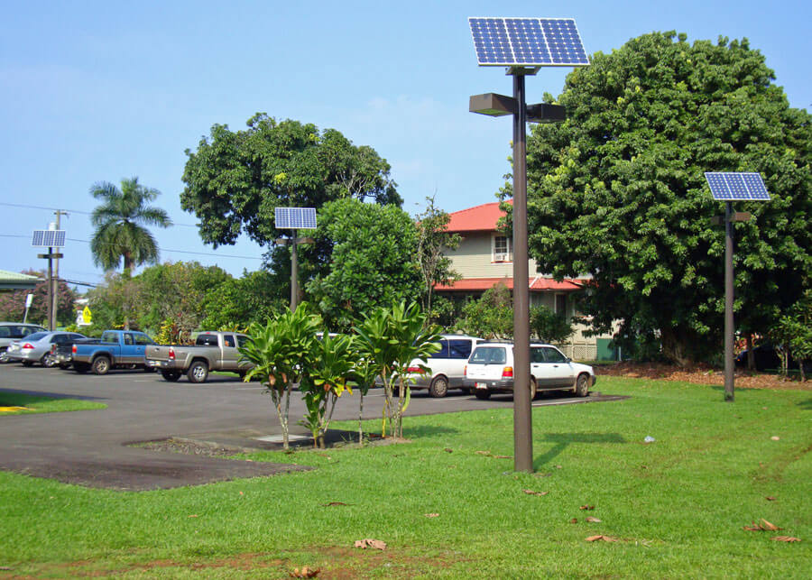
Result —
<svg viewBox="0 0 812 580"><path fill-rule="evenodd" d="M239 363L237 348L247 340L248 336L235 332L204 332L194 345L151 345L144 356L146 364L167 381L175 382L186 374L189 382L206 382L209 371L245 375L250 365Z"/></svg>

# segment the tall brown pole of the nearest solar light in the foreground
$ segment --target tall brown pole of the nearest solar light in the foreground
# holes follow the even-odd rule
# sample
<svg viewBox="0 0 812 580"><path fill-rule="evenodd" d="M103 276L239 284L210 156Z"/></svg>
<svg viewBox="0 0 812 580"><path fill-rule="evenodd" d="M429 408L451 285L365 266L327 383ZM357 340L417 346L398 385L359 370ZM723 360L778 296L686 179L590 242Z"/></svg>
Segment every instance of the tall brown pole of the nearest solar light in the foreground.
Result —
<svg viewBox="0 0 812 580"><path fill-rule="evenodd" d="M512 71L513 98L513 468L533 471L530 398L530 290L527 250L527 112L524 72Z"/></svg>

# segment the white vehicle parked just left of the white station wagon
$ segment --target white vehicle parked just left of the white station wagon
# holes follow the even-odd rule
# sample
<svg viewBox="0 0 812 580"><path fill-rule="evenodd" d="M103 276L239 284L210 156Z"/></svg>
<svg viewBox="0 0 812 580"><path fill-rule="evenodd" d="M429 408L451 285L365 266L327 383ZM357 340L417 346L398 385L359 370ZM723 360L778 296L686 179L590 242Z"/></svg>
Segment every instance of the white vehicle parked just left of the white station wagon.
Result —
<svg viewBox="0 0 812 580"><path fill-rule="evenodd" d="M463 389L466 378L468 357L482 338L463 335L441 335L440 349L423 361L415 359L409 366L409 381L412 389L428 389L432 397L445 397L448 389ZM420 368L429 368L429 372Z"/></svg>

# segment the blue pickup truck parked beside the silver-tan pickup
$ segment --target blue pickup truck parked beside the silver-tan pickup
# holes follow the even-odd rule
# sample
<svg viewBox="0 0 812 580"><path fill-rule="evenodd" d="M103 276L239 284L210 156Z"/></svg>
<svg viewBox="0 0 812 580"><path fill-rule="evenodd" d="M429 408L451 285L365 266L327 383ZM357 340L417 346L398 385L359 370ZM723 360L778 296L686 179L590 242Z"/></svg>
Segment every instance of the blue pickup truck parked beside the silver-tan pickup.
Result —
<svg viewBox="0 0 812 580"><path fill-rule="evenodd" d="M73 368L78 373L93 371L106 374L115 367L149 369L143 354L155 341L143 332L106 330L101 339L80 340L73 344Z"/></svg>

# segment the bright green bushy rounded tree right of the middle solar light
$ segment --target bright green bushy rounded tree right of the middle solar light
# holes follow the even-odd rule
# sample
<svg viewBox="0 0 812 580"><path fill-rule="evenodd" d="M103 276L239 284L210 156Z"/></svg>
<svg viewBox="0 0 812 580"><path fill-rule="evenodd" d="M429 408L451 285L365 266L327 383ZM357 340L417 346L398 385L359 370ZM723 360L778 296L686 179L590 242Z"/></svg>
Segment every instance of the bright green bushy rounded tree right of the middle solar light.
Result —
<svg viewBox="0 0 812 580"><path fill-rule="evenodd" d="M330 328L346 330L374 308L420 298L417 232L400 207L329 202L313 236L329 261L318 262L318 250L303 250L315 272L306 289Z"/></svg>

